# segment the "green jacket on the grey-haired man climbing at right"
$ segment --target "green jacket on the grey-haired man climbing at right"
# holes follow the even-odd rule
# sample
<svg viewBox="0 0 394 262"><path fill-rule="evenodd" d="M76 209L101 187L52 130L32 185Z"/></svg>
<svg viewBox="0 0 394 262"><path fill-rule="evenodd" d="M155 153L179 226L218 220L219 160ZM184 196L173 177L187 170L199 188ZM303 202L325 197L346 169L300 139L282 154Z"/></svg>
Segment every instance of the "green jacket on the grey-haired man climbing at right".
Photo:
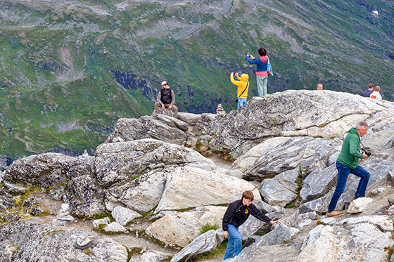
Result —
<svg viewBox="0 0 394 262"><path fill-rule="evenodd" d="M349 166L350 169L357 169L359 158L362 159L363 155L360 153L360 136L357 130L352 127L343 140L341 153L336 159L341 164Z"/></svg>

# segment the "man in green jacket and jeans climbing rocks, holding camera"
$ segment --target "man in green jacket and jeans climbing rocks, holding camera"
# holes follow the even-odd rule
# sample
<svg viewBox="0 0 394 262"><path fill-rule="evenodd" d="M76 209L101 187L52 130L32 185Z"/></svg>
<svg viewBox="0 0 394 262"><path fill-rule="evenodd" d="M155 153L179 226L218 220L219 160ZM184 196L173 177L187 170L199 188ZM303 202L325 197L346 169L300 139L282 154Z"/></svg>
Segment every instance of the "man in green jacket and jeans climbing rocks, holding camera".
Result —
<svg viewBox="0 0 394 262"><path fill-rule="evenodd" d="M342 211L334 211L339 197L341 197L345 190L346 181L348 180L349 173L360 177L360 182L357 186L355 199L364 197L365 190L367 189L370 173L358 165L359 159L366 159L368 156L365 152L360 152L360 137L364 136L368 131L368 125L365 122L360 122L354 128L352 127L343 140L341 153L336 159L336 169L338 169L338 178L336 181L335 192L331 197L329 210L327 216L337 216L342 214Z"/></svg>

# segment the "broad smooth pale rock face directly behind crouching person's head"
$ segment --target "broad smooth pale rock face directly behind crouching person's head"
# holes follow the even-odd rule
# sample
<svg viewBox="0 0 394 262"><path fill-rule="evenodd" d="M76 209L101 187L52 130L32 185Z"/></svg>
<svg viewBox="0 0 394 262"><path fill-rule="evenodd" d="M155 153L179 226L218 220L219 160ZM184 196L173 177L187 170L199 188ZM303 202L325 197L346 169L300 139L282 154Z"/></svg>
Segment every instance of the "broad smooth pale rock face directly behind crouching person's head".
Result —
<svg viewBox="0 0 394 262"><path fill-rule="evenodd" d="M255 185L240 178L204 169L177 168L167 178L163 197L155 213L210 204L229 204L240 199L245 190L253 191ZM258 190L255 190L253 195L255 201L261 199Z"/></svg>

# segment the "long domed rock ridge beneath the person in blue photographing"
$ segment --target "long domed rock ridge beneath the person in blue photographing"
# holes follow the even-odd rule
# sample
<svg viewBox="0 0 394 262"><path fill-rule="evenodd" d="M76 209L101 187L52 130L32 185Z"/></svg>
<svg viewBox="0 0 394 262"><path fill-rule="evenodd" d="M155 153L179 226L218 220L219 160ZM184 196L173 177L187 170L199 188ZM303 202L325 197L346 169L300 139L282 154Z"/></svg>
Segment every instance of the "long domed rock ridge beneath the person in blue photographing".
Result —
<svg viewBox="0 0 394 262"><path fill-rule="evenodd" d="M217 124L210 142L215 150L229 149L242 155L242 145L254 140L260 143L273 136L313 136L342 138L357 122L384 113L388 117L392 103L377 103L350 93L288 90L262 98L250 99L242 108L227 114Z"/></svg>

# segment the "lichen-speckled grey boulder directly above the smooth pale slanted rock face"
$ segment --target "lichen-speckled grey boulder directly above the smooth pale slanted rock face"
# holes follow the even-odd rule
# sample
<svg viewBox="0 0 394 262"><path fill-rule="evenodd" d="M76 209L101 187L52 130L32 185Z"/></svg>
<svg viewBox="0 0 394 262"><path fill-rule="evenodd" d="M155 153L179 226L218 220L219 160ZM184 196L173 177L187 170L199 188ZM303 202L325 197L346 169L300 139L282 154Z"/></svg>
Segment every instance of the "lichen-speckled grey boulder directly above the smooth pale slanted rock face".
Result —
<svg viewBox="0 0 394 262"><path fill-rule="evenodd" d="M153 139L104 143L96 149L96 175L106 187L148 171L186 165L212 169L214 164L189 148Z"/></svg>

